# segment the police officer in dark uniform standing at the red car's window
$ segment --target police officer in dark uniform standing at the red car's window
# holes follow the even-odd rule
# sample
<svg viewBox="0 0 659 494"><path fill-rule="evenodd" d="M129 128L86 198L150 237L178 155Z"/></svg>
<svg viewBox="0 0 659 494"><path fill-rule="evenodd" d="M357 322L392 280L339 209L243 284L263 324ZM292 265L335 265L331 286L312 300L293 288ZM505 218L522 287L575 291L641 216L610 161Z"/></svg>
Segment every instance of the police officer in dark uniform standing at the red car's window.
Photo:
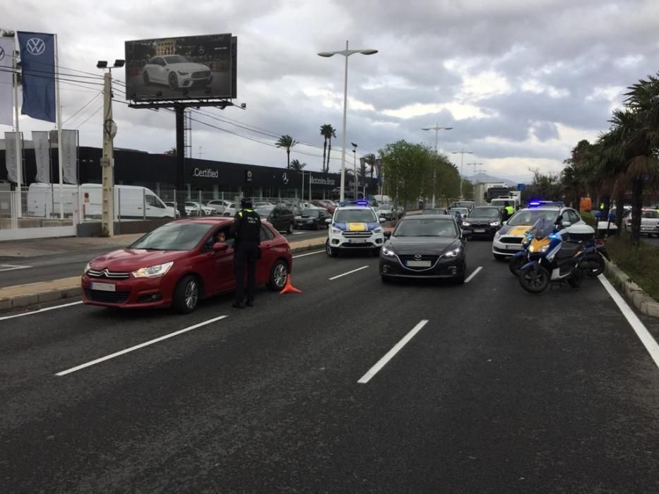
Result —
<svg viewBox="0 0 659 494"><path fill-rule="evenodd" d="M252 209L251 199L240 200L240 210L236 212L230 236L234 243L234 272L236 275L236 299L233 306L245 307L244 274L247 265L247 306L254 306L256 291L256 261L261 258L261 217Z"/></svg>

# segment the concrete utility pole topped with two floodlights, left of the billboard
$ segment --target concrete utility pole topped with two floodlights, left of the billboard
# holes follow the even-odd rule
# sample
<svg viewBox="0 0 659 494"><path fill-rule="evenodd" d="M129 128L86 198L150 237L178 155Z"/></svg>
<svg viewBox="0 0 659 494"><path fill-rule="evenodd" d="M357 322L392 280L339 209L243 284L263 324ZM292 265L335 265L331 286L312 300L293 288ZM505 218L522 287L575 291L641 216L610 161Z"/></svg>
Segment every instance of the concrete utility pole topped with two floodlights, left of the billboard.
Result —
<svg viewBox="0 0 659 494"><path fill-rule="evenodd" d="M117 59L112 67L107 61L97 61L96 68L105 71L103 77L103 157L101 158L101 228L105 236L114 235L114 135L117 124L112 120L112 69L121 68L125 61ZM107 69L107 70L106 70Z"/></svg>

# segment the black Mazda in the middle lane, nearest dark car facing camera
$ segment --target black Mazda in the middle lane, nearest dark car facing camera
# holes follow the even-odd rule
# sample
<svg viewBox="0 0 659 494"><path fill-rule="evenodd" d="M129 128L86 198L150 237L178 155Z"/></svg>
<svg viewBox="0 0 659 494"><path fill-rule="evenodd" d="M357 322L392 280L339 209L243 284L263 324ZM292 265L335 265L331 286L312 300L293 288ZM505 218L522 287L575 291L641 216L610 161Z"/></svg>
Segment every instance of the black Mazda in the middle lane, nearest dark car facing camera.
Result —
<svg viewBox="0 0 659 494"><path fill-rule="evenodd" d="M415 215L400 219L380 249L380 277L465 281L465 246L461 231L449 215Z"/></svg>

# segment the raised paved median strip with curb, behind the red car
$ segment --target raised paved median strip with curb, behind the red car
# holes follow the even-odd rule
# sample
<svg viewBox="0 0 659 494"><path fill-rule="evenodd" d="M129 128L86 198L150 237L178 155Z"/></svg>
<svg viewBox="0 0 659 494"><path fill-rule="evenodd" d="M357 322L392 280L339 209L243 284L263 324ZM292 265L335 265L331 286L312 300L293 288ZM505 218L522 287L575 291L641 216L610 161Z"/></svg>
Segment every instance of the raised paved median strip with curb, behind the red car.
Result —
<svg viewBox="0 0 659 494"><path fill-rule="evenodd" d="M314 251L324 244L324 237L292 242L291 253ZM4 287L0 288L0 313L38 306L47 302L73 299L81 295L82 289L79 276Z"/></svg>

